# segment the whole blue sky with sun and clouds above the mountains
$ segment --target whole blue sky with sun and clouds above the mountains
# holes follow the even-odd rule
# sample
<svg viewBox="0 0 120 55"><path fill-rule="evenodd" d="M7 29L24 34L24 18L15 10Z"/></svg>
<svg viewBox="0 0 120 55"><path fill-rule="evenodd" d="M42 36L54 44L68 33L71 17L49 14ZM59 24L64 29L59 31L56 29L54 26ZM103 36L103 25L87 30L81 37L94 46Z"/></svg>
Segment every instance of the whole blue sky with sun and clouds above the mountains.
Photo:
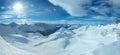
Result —
<svg viewBox="0 0 120 55"><path fill-rule="evenodd" d="M109 24L120 18L120 0L0 0L0 22Z"/></svg>

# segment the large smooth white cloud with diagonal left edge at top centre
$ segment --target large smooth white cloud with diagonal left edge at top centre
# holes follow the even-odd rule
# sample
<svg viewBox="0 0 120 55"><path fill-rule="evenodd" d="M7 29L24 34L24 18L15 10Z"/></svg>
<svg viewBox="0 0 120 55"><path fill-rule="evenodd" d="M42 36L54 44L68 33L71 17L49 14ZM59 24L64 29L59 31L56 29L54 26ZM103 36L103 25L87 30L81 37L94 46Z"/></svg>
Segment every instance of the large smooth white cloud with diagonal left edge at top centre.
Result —
<svg viewBox="0 0 120 55"><path fill-rule="evenodd" d="M90 0L49 0L49 1L56 6L62 7L71 16L87 15L83 5L90 3Z"/></svg>

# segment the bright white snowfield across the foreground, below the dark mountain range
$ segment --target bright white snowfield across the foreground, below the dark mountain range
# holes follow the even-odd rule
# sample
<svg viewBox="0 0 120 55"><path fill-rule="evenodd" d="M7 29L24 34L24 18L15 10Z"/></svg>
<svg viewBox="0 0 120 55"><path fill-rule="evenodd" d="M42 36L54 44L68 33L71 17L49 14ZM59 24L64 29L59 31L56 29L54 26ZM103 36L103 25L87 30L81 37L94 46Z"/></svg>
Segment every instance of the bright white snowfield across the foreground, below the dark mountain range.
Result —
<svg viewBox="0 0 120 55"><path fill-rule="evenodd" d="M11 40L7 43L0 37L0 55L120 55L120 24L60 28L47 37L37 33L26 35L29 37L14 35L25 38L25 44Z"/></svg>

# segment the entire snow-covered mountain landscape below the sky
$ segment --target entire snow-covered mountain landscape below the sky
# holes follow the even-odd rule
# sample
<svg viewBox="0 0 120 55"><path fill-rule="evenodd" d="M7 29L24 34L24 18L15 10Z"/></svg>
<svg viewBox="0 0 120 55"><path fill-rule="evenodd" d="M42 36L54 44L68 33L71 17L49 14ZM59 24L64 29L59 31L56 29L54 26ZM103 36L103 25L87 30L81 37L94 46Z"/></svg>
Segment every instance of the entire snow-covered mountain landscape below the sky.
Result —
<svg viewBox="0 0 120 55"><path fill-rule="evenodd" d="M0 55L120 55L120 24L0 24L0 36Z"/></svg>

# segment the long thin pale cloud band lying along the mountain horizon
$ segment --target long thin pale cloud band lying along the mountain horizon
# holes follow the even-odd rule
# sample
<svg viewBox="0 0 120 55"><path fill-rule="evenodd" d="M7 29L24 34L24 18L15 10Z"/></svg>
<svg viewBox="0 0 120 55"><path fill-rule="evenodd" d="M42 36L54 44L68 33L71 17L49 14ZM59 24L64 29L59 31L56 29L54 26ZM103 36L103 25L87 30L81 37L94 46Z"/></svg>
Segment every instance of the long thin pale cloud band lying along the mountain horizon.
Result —
<svg viewBox="0 0 120 55"><path fill-rule="evenodd" d="M0 23L17 23L21 24L34 24L34 23L47 23L47 24L104 24L106 22L94 21L94 20L34 20L34 19L0 19Z"/></svg>

